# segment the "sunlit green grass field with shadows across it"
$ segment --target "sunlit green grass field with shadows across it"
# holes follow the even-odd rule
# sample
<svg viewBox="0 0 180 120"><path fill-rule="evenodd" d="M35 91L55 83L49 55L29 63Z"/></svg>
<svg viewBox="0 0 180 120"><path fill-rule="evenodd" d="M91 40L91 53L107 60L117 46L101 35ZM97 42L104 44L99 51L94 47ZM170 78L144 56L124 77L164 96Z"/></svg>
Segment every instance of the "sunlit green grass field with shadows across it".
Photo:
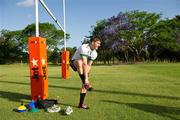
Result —
<svg viewBox="0 0 180 120"><path fill-rule="evenodd" d="M89 110L78 109L81 81L71 71L61 79L59 66L48 66L49 98L60 96L60 107L70 105L70 116L60 113L16 113L21 101L30 102L28 64L0 65L2 120L180 120L180 63L143 63L93 66L88 92Z"/></svg>

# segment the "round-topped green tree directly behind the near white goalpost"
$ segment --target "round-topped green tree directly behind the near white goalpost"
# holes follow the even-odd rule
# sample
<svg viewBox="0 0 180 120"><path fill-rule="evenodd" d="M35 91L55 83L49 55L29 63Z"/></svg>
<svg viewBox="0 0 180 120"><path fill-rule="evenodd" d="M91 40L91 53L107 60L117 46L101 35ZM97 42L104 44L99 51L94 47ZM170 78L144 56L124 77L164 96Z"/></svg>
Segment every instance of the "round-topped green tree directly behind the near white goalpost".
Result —
<svg viewBox="0 0 180 120"><path fill-rule="evenodd" d="M55 49L57 46L63 44L64 32L62 30L58 30L53 24L40 23L39 32L39 36L46 38L48 50ZM22 34L20 36L24 48L27 49L28 37L35 36L35 24L28 25L25 29L22 30ZM68 39L69 34L66 36Z"/></svg>

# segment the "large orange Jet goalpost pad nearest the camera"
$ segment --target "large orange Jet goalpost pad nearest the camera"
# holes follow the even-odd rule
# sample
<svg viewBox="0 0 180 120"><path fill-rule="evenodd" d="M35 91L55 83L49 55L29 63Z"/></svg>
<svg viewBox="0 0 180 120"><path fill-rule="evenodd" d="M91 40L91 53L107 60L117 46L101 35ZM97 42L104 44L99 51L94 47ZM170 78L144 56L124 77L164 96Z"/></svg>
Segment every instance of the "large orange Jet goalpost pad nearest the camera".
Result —
<svg viewBox="0 0 180 120"><path fill-rule="evenodd" d="M48 98L46 39L29 37L29 61L32 100Z"/></svg>

